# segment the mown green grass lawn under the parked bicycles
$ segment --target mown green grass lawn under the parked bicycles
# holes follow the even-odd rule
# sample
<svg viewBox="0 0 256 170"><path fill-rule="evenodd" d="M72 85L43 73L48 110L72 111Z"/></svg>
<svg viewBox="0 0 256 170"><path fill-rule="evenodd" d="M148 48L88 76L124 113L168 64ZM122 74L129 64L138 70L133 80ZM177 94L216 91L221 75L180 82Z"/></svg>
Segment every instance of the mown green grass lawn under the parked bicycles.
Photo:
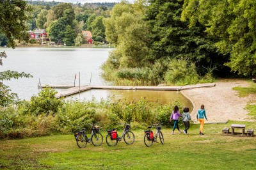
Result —
<svg viewBox="0 0 256 170"><path fill-rule="evenodd" d="M256 169L256 137L222 135L222 128L232 123L256 128L254 122L237 121L207 124L205 135L198 135L199 125L192 125L189 135L177 130L171 135L171 129L164 128L165 143L150 148L143 143L143 130L132 130L134 144L122 140L112 147L104 139L102 146L80 149L73 134L4 140L0 169Z"/></svg>

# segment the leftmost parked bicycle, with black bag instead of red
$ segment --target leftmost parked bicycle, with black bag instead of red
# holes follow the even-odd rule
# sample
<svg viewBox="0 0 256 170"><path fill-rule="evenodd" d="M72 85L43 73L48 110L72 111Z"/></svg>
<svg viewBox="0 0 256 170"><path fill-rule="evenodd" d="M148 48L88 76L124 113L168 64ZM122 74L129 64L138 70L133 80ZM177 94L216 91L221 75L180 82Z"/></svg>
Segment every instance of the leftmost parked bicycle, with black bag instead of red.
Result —
<svg viewBox="0 0 256 170"><path fill-rule="evenodd" d="M87 134L85 132L86 128L83 128L80 132L77 132L75 135L76 143L79 148L84 148L87 143L90 143L92 141L92 144L94 146L100 146L103 142L103 136L100 134L100 128L95 127L94 124L88 124L92 126L92 134L91 137L88 138Z"/></svg>

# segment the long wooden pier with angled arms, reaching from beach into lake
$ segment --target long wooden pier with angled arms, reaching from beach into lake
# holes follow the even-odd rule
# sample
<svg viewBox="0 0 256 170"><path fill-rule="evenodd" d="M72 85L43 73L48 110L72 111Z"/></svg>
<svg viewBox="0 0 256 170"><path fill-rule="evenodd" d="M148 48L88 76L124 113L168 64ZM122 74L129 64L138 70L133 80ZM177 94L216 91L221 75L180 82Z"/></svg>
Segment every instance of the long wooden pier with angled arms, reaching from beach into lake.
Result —
<svg viewBox="0 0 256 170"><path fill-rule="evenodd" d="M42 85L39 88L67 88L60 91L56 98L68 97L76 93L80 93L90 89L127 89L127 90L166 90L166 91L180 91L193 88L211 88L214 87L213 83L196 84L188 86L70 86L70 85Z"/></svg>

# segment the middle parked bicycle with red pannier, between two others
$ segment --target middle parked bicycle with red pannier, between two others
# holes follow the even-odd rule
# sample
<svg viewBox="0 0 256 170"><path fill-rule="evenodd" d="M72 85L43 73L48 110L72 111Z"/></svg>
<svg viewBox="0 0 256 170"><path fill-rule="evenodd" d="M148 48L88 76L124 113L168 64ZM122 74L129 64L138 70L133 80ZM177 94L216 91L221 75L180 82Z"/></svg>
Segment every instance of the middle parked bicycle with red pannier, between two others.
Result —
<svg viewBox="0 0 256 170"><path fill-rule="evenodd" d="M106 135L106 142L108 146L115 146L118 141L121 141L124 137L124 142L126 144L134 143L134 134L131 132L131 125L126 123L119 123L120 125L124 125L124 131L121 137L118 137L116 132L116 128L112 130L108 130L108 134Z"/></svg>

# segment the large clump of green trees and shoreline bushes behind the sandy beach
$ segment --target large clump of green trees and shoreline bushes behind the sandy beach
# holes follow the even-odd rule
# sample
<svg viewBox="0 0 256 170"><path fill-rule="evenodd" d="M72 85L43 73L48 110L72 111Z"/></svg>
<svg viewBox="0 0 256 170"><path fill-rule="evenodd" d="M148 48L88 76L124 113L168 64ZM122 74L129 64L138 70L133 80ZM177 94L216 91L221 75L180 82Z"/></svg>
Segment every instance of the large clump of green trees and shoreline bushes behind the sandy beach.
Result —
<svg viewBox="0 0 256 170"><path fill-rule="evenodd" d="M256 1L138 0L105 19L116 84L195 84L256 73Z"/></svg>

